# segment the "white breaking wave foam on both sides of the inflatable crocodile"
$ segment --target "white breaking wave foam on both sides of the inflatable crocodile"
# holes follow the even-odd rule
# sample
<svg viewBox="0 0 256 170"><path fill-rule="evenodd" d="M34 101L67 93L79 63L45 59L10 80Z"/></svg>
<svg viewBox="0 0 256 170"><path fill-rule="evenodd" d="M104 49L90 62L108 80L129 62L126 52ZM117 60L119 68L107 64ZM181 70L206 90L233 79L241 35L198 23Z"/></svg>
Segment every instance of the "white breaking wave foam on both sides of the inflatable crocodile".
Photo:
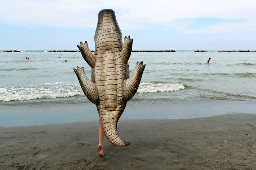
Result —
<svg viewBox="0 0 256 170"><path fill-rule="evenodd" d="M184 89L183 84L140 83L139 93L169 92ZM44 83L35 86L0 88L0 101L63 98L84 95L79 83Z"/></svg>

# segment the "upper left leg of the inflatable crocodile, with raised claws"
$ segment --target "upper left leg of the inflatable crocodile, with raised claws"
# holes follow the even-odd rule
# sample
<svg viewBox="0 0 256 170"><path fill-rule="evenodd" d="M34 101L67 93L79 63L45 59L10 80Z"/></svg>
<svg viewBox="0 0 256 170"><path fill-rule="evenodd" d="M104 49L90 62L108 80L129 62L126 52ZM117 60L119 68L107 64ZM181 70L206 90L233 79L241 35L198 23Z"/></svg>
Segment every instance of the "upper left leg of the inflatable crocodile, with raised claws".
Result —
<svg viewBox="0 0 256 170"><path fill-rule="evenodd" d="M91 66L91 68L93 68L95 65L96 56L93 53L91 53L87 41L85 41L84 43L80 42L80 46L77 45L77 47L79 48L86 63L88 63L89 66Z"/></svg>

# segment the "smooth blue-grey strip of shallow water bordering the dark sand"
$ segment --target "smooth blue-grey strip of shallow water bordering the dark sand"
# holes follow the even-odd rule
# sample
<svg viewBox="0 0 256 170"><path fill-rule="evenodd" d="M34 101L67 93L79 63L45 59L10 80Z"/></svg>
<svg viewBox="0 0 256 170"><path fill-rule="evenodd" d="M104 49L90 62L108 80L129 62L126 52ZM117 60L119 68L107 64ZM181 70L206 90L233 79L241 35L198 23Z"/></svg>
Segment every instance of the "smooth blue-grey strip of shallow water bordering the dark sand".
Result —
<svg viewBox="0 0 256 170"><path fill-rule="evenodd" d="M0 127L98 121L97 108L91 102L0 104L0 107ZM120 120L191 119L227 113L256 114L255 110L255 102L251 101L131 100Z"/></svg>

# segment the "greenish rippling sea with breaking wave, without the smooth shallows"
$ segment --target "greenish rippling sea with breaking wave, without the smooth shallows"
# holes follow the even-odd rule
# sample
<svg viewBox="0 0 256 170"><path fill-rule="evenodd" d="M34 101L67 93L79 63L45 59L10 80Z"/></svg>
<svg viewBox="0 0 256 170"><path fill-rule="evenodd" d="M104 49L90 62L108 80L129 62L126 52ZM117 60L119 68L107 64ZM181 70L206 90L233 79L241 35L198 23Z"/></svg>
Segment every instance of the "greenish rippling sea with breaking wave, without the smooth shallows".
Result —
<svg viewBox="0 0 256 170"><path fill-rule="evenodd" d="M134 106L158 107L233 101L255 106L256 54L253 53L132 52L128 61L130 75L137 61L146 63L146 68L140 87L129 102ZM83 66L91 79L91 68L80 52L0 51L0 61L0 107L90 103L73 70ZM6 108L4 113L7 112Z"/></svg>

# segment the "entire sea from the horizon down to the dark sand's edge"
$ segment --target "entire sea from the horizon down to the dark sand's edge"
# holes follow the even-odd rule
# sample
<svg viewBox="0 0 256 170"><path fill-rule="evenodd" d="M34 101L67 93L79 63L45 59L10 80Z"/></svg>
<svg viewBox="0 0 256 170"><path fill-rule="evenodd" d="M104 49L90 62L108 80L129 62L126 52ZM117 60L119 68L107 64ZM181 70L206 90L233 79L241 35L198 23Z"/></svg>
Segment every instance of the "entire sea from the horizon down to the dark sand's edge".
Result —
<svg viewBox="0 0 256 170"><path fill-rule="evenodd" d="M237 110L256 113L254 53L132 52L130 75L137 61L146 63L146 68L137 93L127 104L125 112L129 114L124 112L122 117L195 118ZM76 66L83 66L91 79L91 68L80 52L0 51L0 126L68 122L70 118L77 121L90 114L97 117L96 107L83 94L75 75ZM70 113L71 108L76 116ZM31 120L22 124L24 114L30 114L26 118ZM49 120L40 123L38 116Z"/></svg>

